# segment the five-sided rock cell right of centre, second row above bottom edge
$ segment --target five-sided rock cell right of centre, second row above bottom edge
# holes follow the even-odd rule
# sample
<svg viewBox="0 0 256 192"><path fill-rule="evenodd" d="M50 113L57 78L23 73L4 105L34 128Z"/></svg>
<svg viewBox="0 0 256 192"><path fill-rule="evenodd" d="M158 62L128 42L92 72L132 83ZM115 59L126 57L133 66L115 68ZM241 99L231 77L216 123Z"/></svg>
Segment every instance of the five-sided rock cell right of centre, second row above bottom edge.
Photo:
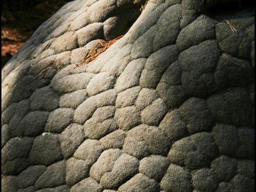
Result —
<svg viewBox="0 0 256 192"><path fill-rule="evenodd" d="M170 161L160 155L145 157L140 161L139 171L145 176L160 181L169 167Z"/></svg>

